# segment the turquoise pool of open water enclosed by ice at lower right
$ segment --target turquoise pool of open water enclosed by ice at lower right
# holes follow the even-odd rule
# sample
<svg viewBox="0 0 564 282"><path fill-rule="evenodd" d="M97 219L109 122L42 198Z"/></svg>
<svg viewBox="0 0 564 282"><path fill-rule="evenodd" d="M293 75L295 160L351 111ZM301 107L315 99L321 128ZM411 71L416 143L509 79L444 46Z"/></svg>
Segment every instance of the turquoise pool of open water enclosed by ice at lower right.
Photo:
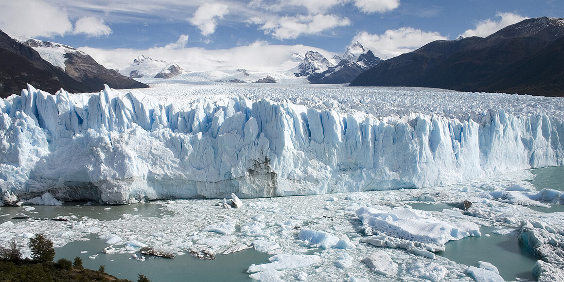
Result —
<svg viewBox="0 0 564 282"><path fill-rule="evenodd" d="M531 271L537 258L519 243L517 236L499 235L493 230L496 229L482 226L482 236L448 241L446 250L436 254L468 266L478 267L478 261L490 262L507 281L516 277L536 280Z"/></svg>

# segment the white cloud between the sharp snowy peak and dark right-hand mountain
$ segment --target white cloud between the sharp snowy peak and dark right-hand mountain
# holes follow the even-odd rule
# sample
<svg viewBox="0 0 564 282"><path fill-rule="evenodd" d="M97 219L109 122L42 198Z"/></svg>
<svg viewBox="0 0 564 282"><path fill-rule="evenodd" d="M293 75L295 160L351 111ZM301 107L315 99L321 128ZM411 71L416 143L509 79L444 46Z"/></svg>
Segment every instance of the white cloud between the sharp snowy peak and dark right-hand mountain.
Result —
<svg viewBox="0 0 564 282"><path fill-rule="evenodd" d="M372 50L374 55L382 59L389 59L411 52L435 40L447 40L438 32L424 32L415 28L388 29L384 34L370 34L359 32L352 42L360 42L364 47Z"/></svg>

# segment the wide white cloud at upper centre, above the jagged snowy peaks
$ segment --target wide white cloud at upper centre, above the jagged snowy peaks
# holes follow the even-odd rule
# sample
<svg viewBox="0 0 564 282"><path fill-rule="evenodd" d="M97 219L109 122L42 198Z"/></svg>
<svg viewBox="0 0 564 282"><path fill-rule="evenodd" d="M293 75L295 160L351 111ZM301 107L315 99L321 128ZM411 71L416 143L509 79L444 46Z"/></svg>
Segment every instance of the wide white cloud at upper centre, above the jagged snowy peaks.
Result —
<svg viewBox="0 0 564 282"><path fill-rule="evenodd" d="M265 34L272 34L272 37L284 40L295 39L302 34L319 34L324 30L350 25L351 21L347 17L318 14L271 16L269 19L254 17L249 19L249 23L262 25L259 29L265 30Z"/></svg>

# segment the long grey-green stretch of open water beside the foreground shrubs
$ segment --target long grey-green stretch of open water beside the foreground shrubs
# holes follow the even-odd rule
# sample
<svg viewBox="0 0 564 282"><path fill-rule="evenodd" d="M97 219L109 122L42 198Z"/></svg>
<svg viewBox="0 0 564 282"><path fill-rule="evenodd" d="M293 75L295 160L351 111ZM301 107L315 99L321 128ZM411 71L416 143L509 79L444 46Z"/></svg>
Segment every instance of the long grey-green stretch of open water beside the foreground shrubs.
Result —
<svg viewBox="0 0 564 282"><path fill-rule="evenodd" d="M82 258L86 268L98 270L100 265L105 266L105 272L121 279L137 281L138 274L147 276L153 282L160 281L253 281L246 273L247 268L253 263L267 263L271 255L259 253L254 249L227 255L217 254L214 261L193 258L190 254L177 255L177 257L158 258L146 255L146 261L129 259L131 254L104 254L100 250L107 247L105 240L96 239L91 235L89 241L74 241L63 248L55 248L55 261L67 258L73 261L74 257ZM88 251L81 254L82 251ZM89 258L95 255L95 259ZM139 254L138 254L139 255Z"/></svg>

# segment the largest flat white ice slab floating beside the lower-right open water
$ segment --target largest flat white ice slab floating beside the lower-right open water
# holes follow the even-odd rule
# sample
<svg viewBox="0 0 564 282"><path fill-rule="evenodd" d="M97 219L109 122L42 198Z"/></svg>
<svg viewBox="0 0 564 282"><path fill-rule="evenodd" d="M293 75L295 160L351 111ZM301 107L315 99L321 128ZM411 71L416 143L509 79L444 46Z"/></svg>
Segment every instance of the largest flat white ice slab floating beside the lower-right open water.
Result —
<svg viewBox="0 0 564 282"><path fill-rule="evenodd" d="M480 236L479 226L472 222L447 223L422 211L396 208L378 210L360 208L356 215L365 228L385 233L399 239L444 245L449 240L459 240L466 236Z"/></svg>

